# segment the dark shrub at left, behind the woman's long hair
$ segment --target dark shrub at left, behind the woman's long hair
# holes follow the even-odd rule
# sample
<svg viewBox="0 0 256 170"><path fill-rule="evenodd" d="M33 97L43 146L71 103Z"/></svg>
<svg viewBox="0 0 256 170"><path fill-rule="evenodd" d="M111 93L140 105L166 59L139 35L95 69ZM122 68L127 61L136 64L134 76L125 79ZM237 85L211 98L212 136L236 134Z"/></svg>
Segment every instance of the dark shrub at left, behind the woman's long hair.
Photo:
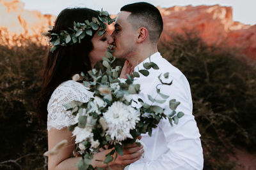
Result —
<svg viewBox="0 0 256 170"><path fill-rule="evenodd" d="M33 102L46 48L0 46L0 169L44 169L45 127L38 124Z"/></svg>

